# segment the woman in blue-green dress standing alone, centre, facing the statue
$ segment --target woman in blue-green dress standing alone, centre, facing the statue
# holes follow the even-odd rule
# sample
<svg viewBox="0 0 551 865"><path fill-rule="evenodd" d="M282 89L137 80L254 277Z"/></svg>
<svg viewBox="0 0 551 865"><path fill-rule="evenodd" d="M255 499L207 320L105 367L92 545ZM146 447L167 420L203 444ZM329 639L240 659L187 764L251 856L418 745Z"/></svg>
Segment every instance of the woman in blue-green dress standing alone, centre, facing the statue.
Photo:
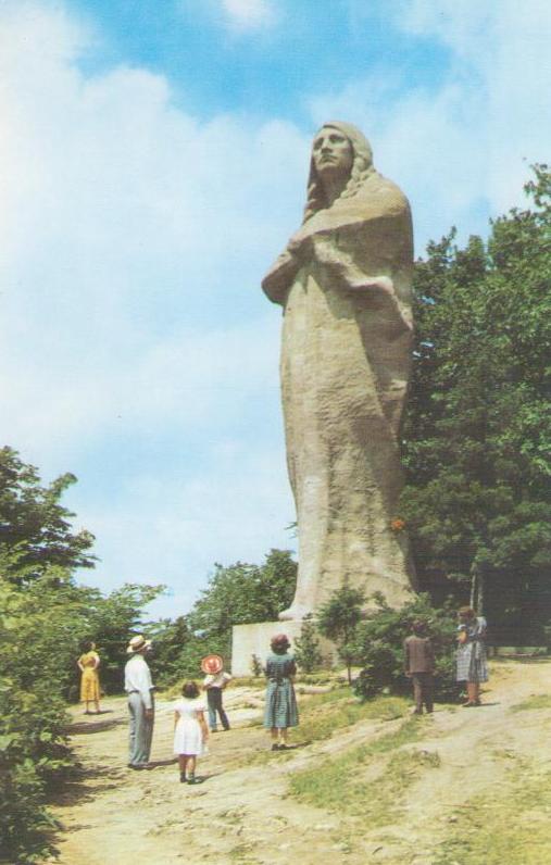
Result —
<svg viewBox="0 0 551 865"><path fill-rule="evenodd" d="M292 686L297 673L295 657L288 653L289 640L278 634L271 641L272 654L266 659L266 706L264 727L272 732L272 751L287 748L287 730L299 723L299 712Z"/></svg>

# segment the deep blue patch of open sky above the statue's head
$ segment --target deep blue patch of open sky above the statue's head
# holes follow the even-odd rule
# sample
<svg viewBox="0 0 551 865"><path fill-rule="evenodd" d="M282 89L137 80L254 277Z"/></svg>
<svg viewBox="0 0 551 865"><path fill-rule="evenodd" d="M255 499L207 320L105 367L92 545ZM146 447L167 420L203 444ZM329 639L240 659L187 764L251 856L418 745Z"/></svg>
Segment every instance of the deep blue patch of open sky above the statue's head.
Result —
<svg viewBox="0 0 551 865"><path fill-rule="evenodd" d="M367 74L403 52L402 72L430 88L435 67L446 67L449 55L422 34L412 39L389 26L388 2L99 0L92 16L89 2L77 5L88 21L101 22L103 54L96 63L125 58L167 75L179 104L201 114L229 110L308 122L306 93L326 92L328 83L339 89L351 67Z"/></svg>

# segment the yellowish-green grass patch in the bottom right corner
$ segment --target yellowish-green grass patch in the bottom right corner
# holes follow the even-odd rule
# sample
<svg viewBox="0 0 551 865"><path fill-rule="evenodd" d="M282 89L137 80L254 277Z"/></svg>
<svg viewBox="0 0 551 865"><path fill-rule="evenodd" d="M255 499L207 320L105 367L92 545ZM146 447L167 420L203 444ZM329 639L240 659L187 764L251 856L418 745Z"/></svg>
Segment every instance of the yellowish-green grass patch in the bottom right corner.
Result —
<svg viewBox="0 0 551 865"><path fill-rule="evenodd" d="M549 865L551 773L527 779L523 763L506 788L455 812L453 833L440 844L435 865Z"/></svg>

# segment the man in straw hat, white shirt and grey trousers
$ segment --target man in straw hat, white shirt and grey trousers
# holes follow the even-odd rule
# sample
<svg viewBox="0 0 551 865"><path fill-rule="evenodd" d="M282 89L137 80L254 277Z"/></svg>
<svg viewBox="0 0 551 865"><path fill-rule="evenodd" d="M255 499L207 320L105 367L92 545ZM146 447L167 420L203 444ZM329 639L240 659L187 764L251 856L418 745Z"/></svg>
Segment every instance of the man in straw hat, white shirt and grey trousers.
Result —
<svg viewBox="0 0 551 865"><path fill-rule="evenodd" d="M151 753L155 709L153 682L146 663L150 648L151 641L138 635L132 638L126 649L130 655L124 668L124 690L128 694L130 713L128 767L132 769L145 768Z"/></svg>

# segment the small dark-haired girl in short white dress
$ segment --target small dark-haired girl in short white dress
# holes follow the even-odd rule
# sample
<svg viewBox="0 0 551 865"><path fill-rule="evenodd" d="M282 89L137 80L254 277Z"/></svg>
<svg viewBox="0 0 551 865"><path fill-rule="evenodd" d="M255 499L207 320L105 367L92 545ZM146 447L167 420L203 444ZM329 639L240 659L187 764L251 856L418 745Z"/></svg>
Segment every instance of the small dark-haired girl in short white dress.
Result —
<svg viewBox="0 0 551 865"><path fill-rule="evenodd" d="M174 753L178 755L181 783L197 783L197 757L206 753L209 728L204 719L205 704L199 698L199 687L187 681L181 700L174 706ZM186 777L187 772L187 777Z"/></svg>

